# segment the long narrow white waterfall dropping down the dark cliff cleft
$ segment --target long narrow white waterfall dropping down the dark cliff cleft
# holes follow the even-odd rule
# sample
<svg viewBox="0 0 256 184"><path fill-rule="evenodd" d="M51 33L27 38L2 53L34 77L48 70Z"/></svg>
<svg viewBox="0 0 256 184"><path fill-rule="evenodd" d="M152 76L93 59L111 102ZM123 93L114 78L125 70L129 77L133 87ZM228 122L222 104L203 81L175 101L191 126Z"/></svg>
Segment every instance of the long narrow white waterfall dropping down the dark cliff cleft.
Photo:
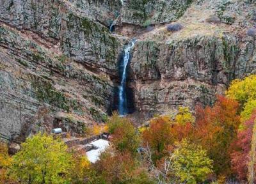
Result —
<svg viewBox="0 0 256 184"><path fill-rule="evenodd" d="M121 116L127 114L127 96L126 96L126 78L127 66L130 60L130 51L134 47L136 40L131 40L124 49L123 59L121 63L121 82L118 91L118 112Z"/></svg>

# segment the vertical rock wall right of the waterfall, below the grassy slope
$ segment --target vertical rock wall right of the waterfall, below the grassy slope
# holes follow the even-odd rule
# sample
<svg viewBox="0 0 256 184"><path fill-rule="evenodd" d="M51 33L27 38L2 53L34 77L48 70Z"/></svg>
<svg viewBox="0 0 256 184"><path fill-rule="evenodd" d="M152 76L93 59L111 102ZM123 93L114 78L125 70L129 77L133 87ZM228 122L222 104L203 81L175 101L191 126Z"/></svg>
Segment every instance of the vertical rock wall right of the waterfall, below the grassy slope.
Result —
<svg viewBox="0 0 256 184"><path fill-rule="evenodd" d="M223 36L137 43L131 63L139 111L163 113L179 105L212 104L232 79L255 73L253 44Z"/></svg>

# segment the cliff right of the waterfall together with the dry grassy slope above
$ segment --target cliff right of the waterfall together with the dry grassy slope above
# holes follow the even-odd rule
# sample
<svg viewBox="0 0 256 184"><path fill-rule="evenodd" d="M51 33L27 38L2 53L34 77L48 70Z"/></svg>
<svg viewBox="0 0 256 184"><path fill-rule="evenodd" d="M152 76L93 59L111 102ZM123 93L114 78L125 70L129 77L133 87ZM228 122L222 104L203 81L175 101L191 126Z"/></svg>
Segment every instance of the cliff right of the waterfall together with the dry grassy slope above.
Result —
<svg viewBox="0 0 256 184"><path fill-rule="evenodd" d="M230 81L255 73L255 43L246 35L255 25L253 7L252 1L193 2L177 20L182 30L156 26L138 36L130 74L138 111L152 116L212 104Z"/></svg>

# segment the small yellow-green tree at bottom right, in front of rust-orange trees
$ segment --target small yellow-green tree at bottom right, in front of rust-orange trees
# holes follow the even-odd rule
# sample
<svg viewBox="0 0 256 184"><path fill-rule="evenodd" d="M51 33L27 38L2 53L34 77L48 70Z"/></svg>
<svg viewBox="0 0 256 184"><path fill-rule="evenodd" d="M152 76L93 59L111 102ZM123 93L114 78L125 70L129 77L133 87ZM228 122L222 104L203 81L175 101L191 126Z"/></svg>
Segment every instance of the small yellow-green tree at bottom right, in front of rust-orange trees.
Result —
<svg viewBox="0 0 256 184"><path fill-rule="evenodd" d="M181 183L201 182L212 172L212 160L202 146L184 139L173 152L173 170Z"/></svg>

